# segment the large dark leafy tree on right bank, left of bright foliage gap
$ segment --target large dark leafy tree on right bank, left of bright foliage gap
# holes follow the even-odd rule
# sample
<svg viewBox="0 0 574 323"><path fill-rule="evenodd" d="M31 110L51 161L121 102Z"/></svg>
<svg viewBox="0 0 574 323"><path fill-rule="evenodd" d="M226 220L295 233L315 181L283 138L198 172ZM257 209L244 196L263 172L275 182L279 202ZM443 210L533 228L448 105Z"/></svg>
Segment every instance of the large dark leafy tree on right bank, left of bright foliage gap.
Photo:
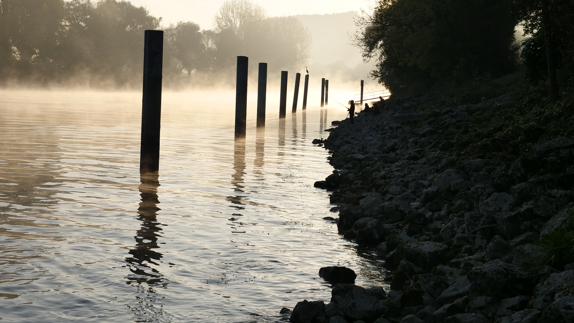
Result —
<svg viewBox="0 0 574 323"><path fill-rule="evenodd" d="M395 94L420 94L457 75L502 75L515 68L516 20L507 3L491 0L379 1L358 18L355 44L377 59L373 71Z"/></svg>

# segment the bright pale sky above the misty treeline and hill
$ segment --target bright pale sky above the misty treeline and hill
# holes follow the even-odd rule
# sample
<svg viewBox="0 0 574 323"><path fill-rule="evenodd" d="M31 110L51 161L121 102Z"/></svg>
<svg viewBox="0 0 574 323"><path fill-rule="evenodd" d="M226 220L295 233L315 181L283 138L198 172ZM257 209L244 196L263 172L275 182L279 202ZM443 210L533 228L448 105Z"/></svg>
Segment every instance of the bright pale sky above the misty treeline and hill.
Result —
<svg viewBox="0 0 574 323"><path fill-rule="evenodd" d="M129 0L148 8L154 17L162 17L164 26L178 21L192 21L202 29L211 29L213 18L225 0ZM376 0L259 0L269 17L294 14L327 14L368 10Z"/></svg>

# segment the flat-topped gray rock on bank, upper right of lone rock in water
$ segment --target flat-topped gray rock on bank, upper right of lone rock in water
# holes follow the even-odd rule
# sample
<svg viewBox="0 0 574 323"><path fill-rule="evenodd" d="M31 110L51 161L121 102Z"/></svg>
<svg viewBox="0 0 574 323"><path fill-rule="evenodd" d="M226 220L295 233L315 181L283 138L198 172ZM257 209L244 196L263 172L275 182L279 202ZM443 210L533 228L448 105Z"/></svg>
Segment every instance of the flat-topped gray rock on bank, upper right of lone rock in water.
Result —
<svg viewBox="0 0 574 323"><path fill-rule="evenodd" d="M397 247L395 263L399 263L402 259L405 259L428 272L432 267L443 262L447 252L448 247L442 243L409 242Z"/></svg>

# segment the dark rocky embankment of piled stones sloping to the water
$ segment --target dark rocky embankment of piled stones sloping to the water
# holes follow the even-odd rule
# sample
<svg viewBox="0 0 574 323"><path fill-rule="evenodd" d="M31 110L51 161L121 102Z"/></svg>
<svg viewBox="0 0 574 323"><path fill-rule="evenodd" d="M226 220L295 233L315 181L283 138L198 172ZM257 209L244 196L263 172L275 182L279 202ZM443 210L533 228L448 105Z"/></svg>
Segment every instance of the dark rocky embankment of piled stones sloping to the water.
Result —
<svg viewBox="0 0 574 323"><path fill-rule="evenodd" d="M316 139L332 151L335 170L316 186L332 191L339 231L377 246L394 274L390 290L338 283L331 302L299 302L290 321L574 322L574 263L523 268L540 235L572 219L574 139L515 158L451 149L473 118L509 103L387 104Z"/></svg>

